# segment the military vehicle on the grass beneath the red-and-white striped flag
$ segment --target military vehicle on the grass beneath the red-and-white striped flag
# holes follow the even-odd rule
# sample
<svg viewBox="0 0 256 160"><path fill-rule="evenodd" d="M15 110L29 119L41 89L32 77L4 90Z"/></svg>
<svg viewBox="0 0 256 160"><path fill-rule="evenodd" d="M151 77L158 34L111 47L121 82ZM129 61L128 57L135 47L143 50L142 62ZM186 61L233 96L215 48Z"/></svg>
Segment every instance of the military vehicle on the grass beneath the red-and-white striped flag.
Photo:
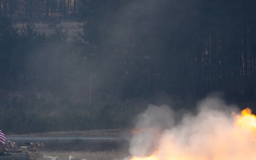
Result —
<svg viewBox="0 0 256 160"><path fill-rule="evenodd" d="M8 141L6 148L0 151L0 160L58 160L58 157L43 156L39 149L43 143L26 142L26 146L16 146L15 142Z"/></svg>

